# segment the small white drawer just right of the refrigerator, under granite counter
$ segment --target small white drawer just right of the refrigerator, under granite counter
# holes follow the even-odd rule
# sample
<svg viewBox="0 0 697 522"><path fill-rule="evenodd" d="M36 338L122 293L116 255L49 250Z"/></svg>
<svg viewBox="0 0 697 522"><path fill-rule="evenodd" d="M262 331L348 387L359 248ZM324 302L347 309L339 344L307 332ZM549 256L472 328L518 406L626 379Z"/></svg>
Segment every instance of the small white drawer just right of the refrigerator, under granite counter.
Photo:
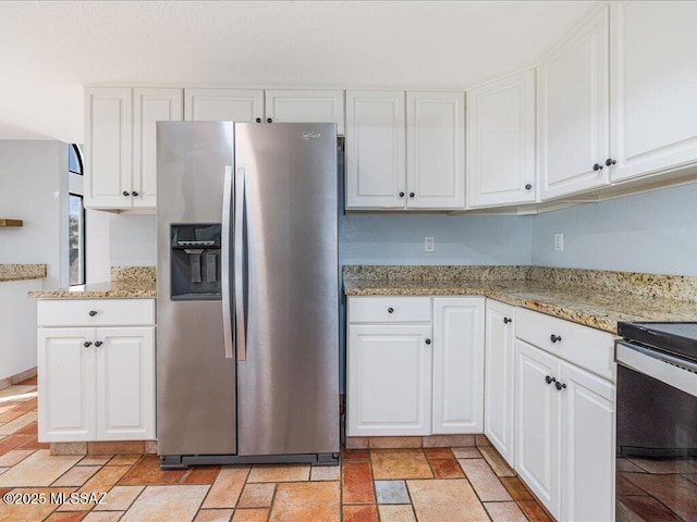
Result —
<svg viewBox="0 0 697 522"><path fill-rule="evenodd" d="M430 322L430 297L351 297L350 323Z"/></svg>

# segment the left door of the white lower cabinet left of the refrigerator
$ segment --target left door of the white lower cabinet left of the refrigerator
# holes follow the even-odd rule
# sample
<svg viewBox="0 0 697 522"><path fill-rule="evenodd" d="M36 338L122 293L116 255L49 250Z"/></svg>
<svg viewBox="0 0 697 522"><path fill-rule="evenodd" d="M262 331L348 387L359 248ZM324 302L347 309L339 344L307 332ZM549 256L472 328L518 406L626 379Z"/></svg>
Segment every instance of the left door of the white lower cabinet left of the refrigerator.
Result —
<svg viewBox="0 0 697 522"><path fill-rule="evenodd" d="M38 328L39 442L95 440L94 340L93 328Z"/></svg>

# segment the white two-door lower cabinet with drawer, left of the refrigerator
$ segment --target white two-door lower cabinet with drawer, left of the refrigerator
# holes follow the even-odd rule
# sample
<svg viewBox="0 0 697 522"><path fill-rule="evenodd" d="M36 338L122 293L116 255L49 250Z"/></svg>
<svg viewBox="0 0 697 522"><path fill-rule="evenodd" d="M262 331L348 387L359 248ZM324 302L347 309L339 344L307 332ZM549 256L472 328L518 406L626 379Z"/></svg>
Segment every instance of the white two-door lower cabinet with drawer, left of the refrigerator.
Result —
<svg viewBox="0 0 697 522"><path fill-rule="evenodd" d="M75 316L53 314L60 302ZM132 302L148 308L144 300ZM95 313L83 314L80 303L91 304ZM38 309L39 440L155 438L155 326L88 326L102 315L125 323L110 313L109 300L39 301ZM152 321L149 315L140 322ZM61 327L47 327L61 321Z"/></svg>

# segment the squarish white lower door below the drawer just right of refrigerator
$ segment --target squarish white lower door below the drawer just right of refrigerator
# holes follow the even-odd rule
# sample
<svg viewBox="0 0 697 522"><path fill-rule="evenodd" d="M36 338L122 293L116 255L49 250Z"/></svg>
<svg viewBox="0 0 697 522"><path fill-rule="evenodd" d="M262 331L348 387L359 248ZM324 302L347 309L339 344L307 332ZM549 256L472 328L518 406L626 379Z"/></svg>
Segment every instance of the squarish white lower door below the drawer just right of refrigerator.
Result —
<svg viewBox="0 0 697 522"><path fill-rule="evenodd" d="M430 325L348 327L346 435L429 435Z"/></svg>

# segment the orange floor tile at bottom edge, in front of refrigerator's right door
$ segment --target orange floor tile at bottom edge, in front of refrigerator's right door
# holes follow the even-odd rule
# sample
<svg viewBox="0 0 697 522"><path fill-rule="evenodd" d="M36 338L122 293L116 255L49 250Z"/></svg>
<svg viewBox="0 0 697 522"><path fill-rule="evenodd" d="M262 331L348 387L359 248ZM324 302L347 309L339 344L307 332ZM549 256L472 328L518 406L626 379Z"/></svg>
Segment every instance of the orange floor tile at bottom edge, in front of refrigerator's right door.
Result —
<svg viewBox="0 0 697 522"><path fill-rule="evenodd" d="M339 522L338 482L295 482L278 485L269 522Z"/></svg>

